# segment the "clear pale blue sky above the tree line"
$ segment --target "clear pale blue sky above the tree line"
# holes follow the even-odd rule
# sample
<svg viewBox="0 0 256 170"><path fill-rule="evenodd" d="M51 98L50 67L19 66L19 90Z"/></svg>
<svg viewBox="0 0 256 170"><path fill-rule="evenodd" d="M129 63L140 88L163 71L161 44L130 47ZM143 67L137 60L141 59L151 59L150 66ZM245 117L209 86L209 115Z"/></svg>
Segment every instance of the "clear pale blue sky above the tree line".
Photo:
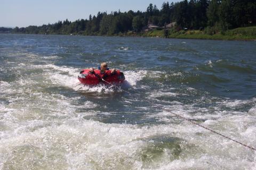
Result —
<svg viewBox="0 0 256 170"><path fill-rule="evenodd" d="M161 9L167 0L1 0L0 27L27 27L55 23L68 19L88 19L100 12L146 11L152 3ZM173 0L171 2L178 2Z"/></svg>

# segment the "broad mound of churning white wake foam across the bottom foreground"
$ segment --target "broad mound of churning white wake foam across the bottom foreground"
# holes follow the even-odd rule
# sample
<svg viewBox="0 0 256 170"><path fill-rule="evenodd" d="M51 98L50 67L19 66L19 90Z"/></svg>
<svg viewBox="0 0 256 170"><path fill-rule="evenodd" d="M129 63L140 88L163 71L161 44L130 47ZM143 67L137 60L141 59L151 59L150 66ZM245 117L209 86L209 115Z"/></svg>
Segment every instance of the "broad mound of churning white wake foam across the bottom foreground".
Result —
<svg viewBox="0 0 256 170"><path fill-rule="evenodd" d="M201 135L198 135L198 133ZM247 133L246 135L254 133L254 129L248 130ZM240 146L234 145L233 142L222 142L225 139L215 137L209 131L202 130L190 124L139 127L137 125L104 124L94 121L82 121L79 124L66 121L59 126L52 125L37 129L34 132L16 133L14 137L1 140L0 149L12 155L15 155L12 152L13 148L19 148L25 144L27 146L37 146L38 148L43 148L43 150L52 150L51 154L53 155L59 154L59 150L62 150L65 159L55 160L56 162L53 163L53 166L64 163L68 164L67 166L71 169L77 169L78 167L114 168L114 165L109 164L113 159L121 168L127 168L126 164L122 164L122 160L127 160L130 162L129 167L131 169L137 169L142 166L148 166L146 163L141 162L141 159L138 159L141 156L141 149L151 145L147 140L166 134L171 134L172 137L183 138L187 140L189 145L195 145L193 148L198 150L183 146L187 150L182 151L183 158L181 161L172 160L173 158L170 160L172 151L165 149L163 154L159 155L161 161L154 160L154 164L151 165L153 169L157 169L157 167L159 169L204 168L214 167L213 164L217 164L219 167L226 161L225 157L222 158L221 162L217 159L215 160L215 158L219 154L224 154L225 150L229 150L229 152L235 154L233 155L233 159L238 161L237 165L232 166L230 162L225 167L237 167L238 165L250 167L252 164L246 165L239 161L241 152L246 154L246 150L243 150ZM202 138L204 141L201 141ZM213 147L212 145L215 145L215 149L211 149ZM54 149L56 147L58 148L57 150ZM38 151L41 152L40 150ZM201 154L202 152L206 152L207 154ZM50 154L50 152L46 152L46 154ZM193 156L196 158L191 158ZM49 157L46 157L46 159L48 160ZM21 161L26 162L26 160ZM209 161L213 164L202 164ZM246 160L244 161L246 162Z"/></svg>

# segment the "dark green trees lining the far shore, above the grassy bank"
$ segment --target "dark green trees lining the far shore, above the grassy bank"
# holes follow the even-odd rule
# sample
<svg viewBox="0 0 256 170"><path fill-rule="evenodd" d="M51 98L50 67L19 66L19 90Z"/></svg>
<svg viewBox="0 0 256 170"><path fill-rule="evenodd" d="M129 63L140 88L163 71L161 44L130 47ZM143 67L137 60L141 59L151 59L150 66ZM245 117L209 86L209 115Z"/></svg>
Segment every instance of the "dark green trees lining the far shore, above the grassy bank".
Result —
<svg viewBox="0 0 256 170"><path fill-rule="evenodd" d="M132 10L111 13L98 12L89 19L65 20L41 26L15 27L13 33L117 35L128 31L140 32L148 23L159 27L176 22L175 30L211 29L225 31L256 25L255 0L190 0L164 2L159 9L149 4L145 12Z"/></svg>

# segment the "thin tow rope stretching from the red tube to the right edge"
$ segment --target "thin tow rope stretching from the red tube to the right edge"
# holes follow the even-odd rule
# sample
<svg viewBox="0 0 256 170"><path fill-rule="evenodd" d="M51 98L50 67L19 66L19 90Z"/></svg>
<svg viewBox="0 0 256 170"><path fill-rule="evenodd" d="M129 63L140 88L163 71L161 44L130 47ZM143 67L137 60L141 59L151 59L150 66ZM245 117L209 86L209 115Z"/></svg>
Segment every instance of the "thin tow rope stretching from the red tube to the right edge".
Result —
<svg viewBox="0 0 256 170"><path fill-rule="evenodd" d="M110 84L111 86L114 86L114 87L118 88L119 90L122 90L122 91L126 92L127 94L129 94L130 96L132 96L131 92L129 92L129 91L127 91L127 90L124 90L124 89L121 89L120 87L116 86L115 84L110 83L110 82L108 82L108 81L106 81L106 80L104 80L104 79L102 79L102 81L104 81L104 82ZM141 97L139 97L139 96L137 96L137 97L140 98L141 100L147 101L147 102L150 103L151 105L155 105L155 104L154 104L152 101L150 101L150 100L143 99L143 98L141 98ZM155 106L157 106L157 105L155 105ZM234 141L234 142L236 142L236 143L239 143L240 145L242 145L242 146L244 146L244 147L247 147L247 148L249 148L249 149L252 149L252 150L255 150L255 151L256 151L256 149L255 149L254 147L245 145L245 144L242 143L242 142L239 142L239 141L237 141L237 140L235 140L235 139L232 139L232 138L230 138L230 137L227 137L226 135L223 135L223 134L221 134L221 133L219 133L219 132L217 132L217 131L214 131L214 130L212 130L212 129L210 129L210 128L207 128L206 126L203 126L203 125L201 125L201 124L199 124L199 123L196 123L196 122L194 122L194 121L191 121L191 120L189 120L189 119L186 118L186 117L183 117L183 116L181 116L181 115L179 115L179 114L173 113L172 111L170 111L170 109L166 109L166 108L164 108L164 107L162 107L162 106L157 106L157 107L160 108L160 109L162 109L162 110L164 110L164 111L166 111L166 112L169 112L169 113L173 114L174 116L177 116L177 117L179 117L179 118L182 118L183 120L186 120L186 121L188 121L188 122L190 122L190 123L193 123L193 124L195 124L195 125L197 125L197 126L200 126L200 127L203 128L203 129L206 129L206 130L208 130L208 131L210 131L210 132L213 132L213 133L215 133L215 134L220 135L221 137L224 137L224 138L226 138L226 139L229 139L229 140L231 140L231 141Z"/></svg>

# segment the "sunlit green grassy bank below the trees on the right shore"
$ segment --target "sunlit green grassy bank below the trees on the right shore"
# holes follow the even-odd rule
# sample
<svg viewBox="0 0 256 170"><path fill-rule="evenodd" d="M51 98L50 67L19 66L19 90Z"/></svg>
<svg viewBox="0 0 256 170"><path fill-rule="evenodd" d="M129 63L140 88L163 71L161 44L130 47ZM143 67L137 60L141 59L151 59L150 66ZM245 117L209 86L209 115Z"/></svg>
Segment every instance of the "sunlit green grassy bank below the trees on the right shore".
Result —
<svg viewBox="0 0 256 170"><path fill-rule="evenodd" d="M163 30L153 30L139 33L142 37L163 37ZM129 36L129 35L128 35ZM207 31L188 30L188 31L169 31L169 38L185 39L215 39L215 40L256 40L256 27L244 27L228 30L226 32L207 33Z"/></svg>

